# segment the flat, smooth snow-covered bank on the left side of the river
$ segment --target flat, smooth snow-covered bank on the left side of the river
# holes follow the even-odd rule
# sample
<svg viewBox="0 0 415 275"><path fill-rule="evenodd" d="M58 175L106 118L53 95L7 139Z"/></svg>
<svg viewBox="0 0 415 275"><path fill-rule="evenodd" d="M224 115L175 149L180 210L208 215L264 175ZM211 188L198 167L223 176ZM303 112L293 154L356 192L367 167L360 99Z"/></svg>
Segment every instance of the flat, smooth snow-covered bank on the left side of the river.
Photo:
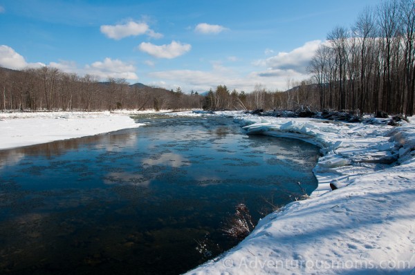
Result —
<svg viewBox="0 0 415 275"><path fill-rule="evenodd" d="M81 138L140 125L126 114L108 111L0 113L0 149Z"/></svg>

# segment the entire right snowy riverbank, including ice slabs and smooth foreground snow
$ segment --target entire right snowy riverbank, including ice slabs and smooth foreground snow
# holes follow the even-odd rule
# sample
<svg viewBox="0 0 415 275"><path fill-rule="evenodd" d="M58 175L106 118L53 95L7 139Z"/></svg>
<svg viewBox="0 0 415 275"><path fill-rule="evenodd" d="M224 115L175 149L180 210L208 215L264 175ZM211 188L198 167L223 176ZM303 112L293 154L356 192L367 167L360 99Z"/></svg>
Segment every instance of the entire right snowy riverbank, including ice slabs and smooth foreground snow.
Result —
<svg viewBox="0 0 415 275"><path fill-rule="evenodd" d="M188 274L415 274L415 117L393 128L221 115L246 124L250 134L320 146L319 186ZM341 188L329 191L330 183Z"/></svg>

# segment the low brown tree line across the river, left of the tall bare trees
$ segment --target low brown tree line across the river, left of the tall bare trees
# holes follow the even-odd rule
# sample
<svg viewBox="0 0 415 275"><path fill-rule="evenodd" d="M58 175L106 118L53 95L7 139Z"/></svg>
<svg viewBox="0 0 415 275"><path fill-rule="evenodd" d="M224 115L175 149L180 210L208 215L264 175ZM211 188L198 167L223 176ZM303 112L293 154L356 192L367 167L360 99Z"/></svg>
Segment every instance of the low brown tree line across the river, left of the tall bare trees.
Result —
<svg viewBox="0 0 415 275"><path fill-rule="evenodd" d="M270 91L257 84L252 93L229 91L226 85L210 89L204 95L190 91L130 85L126 79L109 77L100 82L98 77L64 73L49 66L10 70L0 68L1 111L94 111L191 109L254 110L297 109L312 106L318 100L311 91L310 81L290 82L295 88L282 93Z"/></svg>

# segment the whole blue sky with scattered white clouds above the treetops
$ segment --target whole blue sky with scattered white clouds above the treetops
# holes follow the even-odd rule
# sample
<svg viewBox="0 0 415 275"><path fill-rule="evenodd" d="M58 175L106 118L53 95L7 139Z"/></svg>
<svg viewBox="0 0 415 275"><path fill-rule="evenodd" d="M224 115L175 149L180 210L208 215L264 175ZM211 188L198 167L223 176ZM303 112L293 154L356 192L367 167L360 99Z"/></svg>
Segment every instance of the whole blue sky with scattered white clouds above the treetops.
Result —
<svg viewBox="0 0 415 275"><path fill-rule="evenodd" d="M335 26L379 0L0 0L0 66L185 93L285 91ZM291 83L291 84L288 84Z"/></svg>

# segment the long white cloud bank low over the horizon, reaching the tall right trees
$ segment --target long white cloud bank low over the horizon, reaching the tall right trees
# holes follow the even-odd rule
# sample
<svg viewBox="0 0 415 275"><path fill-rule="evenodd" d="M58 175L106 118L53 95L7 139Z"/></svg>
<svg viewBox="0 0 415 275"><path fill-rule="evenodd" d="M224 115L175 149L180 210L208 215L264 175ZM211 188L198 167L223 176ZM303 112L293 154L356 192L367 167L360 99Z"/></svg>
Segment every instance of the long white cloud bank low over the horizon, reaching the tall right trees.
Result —
<svg viewBox="0 0 415 275"><path fill-rule="evenodd" d="M320 44L325 43L319 40L308 41L304 45L295 48L288 53L275 53L266 50L270 56L266 59L259 59L254 62L257 68L225 67L220 62L211 62L212 68L208 70L167 70L149 73L154 83L165 88L181 86L183 91L208 91L220 84L225 84L230 90L251 92L255 84L262 84L271 91L279 89L284 91L287 88L288 80L301 81L310 77L306 72L309 61L315 54ZM233 57L228 60L234 59ZM163 81L163 84L160 84Z"/></svg>

